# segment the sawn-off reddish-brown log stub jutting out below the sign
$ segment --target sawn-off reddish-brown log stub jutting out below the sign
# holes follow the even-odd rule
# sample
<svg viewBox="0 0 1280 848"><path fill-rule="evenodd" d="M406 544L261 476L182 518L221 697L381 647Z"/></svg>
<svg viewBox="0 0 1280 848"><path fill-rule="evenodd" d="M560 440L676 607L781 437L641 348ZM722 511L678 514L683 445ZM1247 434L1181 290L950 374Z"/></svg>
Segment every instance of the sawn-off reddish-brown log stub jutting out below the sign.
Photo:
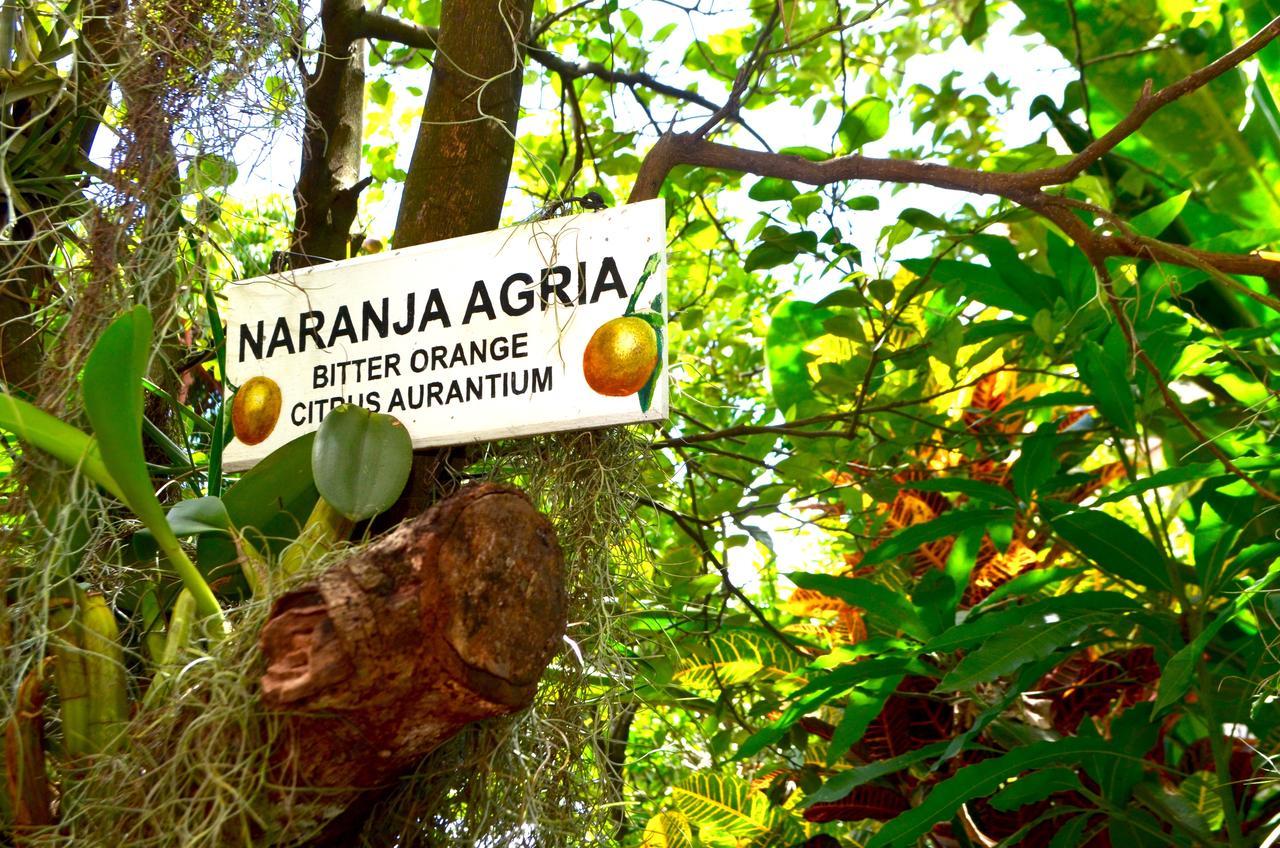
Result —
<svg viewBox="0 0 1280 848"><path fill-rule="evenodd" d="M262 702L308 788L372 788L521 710L559 648L564 566L520 489L474 485L275 603Z"/></svg>

